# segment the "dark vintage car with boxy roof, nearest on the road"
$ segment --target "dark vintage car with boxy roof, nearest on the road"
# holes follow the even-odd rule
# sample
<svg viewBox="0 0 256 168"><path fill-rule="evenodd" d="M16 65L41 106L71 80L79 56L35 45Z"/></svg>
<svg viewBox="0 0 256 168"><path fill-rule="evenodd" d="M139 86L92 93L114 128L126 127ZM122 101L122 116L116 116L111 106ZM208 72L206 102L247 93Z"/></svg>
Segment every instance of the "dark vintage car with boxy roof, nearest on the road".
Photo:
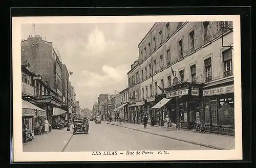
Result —
<svg viewBox="0 0 256 168"><path fill-rule="evenodd" d="M73 134L88 133L89 125L86 125L86 117L73 118Z"/></svg>

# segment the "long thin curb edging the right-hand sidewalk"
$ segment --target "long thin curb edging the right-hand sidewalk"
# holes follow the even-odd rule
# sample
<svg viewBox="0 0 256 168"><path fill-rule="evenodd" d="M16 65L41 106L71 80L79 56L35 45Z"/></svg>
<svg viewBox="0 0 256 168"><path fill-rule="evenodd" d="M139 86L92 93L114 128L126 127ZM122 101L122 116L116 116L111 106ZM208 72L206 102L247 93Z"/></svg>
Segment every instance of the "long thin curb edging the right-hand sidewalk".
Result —
<svg viewBox="0 0 256 168"><path fill-rule="evenodd" d="M167 138L170 138L170 139L175 139L175 140L178 140L178 141L182 141L182 142L186 142L186 143L190 143L190 144L194 144L194 145L199 145L199 146L204 146L204 147L208 147L208 148L212 148L212 149L229 150L229 149L222 148L222 147L217 147L217 146L214 146L214 145L196 143L196 142L193 142L193 141L187 141L187 140L184 140L184 139L179 139L179 138L175 138L175 137L170 137L170 136L166 136L166 135L162 135L162 134L157 134L157 133L152 133L152 132L148 132L148 131L143 131L143 130L139 130L139 129L135 129L135 128L125 127L125 126L122 126L122 125L116 125L116 124L111 124L111 123L105 123L105 124L110 124L110 125L114 125L114 126L118 126L118 127L123 127L123 128L127 128L127 129L132 129L132 130L136 130L136 131L140 131L140 132L150 133L150 134L153 134L153 135L162 136L162 137L167 137Z"/></svg>

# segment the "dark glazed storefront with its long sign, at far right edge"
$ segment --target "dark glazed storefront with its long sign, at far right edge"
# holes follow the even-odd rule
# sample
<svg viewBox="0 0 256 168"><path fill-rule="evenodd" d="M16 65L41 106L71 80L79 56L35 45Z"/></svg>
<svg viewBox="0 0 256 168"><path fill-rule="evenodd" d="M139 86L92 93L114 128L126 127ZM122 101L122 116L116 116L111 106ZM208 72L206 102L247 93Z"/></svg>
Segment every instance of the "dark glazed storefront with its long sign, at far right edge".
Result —
<svg viewBox="0 0 256 168"><path fill-rule="evenodd" d="M234 135L233 83L204 87L203 106L207 132Z"/></svg>

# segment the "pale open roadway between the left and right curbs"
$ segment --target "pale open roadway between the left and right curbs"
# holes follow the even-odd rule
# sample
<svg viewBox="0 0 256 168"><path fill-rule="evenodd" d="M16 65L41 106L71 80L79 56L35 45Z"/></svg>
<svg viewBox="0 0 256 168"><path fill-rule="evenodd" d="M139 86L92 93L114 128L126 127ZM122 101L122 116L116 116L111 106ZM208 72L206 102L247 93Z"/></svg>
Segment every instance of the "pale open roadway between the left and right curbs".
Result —
<svg viewBox="0 0 256 168"><path fill-rule="evenodd" d="M154 134L90 122L89 134L74 135L64 152L122 150L212 150Z"/></svg>

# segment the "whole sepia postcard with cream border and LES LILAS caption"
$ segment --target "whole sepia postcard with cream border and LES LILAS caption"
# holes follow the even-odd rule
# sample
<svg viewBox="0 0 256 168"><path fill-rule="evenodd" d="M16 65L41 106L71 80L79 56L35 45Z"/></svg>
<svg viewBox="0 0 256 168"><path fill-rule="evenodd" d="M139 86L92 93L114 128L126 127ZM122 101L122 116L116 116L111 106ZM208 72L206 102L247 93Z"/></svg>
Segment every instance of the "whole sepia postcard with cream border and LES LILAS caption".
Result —
<svg viewBox="0 0 256 168"><path fill-rule="evenodd" d="M242 159L239 15L12 17L13 161Z"/></svg>

